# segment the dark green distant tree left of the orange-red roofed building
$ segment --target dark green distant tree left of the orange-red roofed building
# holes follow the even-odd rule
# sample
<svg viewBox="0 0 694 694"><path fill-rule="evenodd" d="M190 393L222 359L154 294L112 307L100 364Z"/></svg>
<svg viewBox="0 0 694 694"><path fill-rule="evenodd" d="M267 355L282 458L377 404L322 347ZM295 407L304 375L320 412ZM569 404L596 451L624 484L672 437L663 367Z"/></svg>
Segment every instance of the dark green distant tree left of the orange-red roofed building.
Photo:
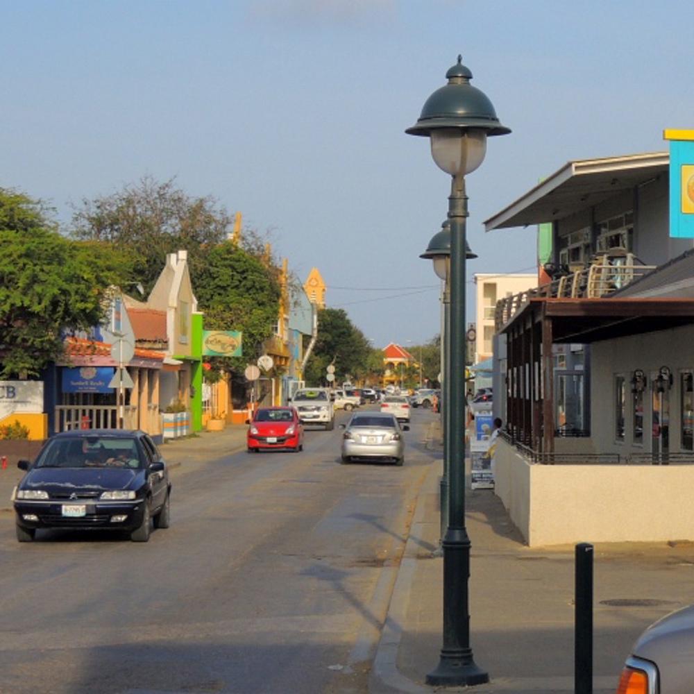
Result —
<svg viewBox="0 0 694 694"><path fill-rule="evenodd" d="M356 328L342 309L325 308L318 312L318 339L306 364L305 380L310 384L325 383L326 369L335 366L335 380L362 378L368 371L371 353L369 340Z"/></svg>

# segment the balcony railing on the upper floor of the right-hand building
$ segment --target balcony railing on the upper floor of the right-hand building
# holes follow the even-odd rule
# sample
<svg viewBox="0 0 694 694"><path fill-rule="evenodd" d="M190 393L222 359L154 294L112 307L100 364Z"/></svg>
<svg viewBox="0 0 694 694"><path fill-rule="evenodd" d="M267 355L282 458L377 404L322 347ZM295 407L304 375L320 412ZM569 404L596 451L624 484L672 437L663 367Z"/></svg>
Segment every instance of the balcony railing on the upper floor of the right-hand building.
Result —
<svg viewBox="0 0 694 694"><path fill-rule="evenodd" d="M654 270L656 265L613 264L607 255L598 257L590 266L568 272L546 285L526 289L500 299L496 303L494 323L499 332L506 323L533 298L601 298Z"/></svg>

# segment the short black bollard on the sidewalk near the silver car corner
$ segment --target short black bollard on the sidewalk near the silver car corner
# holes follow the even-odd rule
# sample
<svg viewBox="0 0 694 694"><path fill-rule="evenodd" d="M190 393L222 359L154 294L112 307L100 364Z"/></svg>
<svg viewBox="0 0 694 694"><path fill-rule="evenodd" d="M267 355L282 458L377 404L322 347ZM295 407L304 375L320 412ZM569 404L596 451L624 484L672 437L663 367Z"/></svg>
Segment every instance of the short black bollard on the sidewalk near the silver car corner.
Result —
<svg viewBox="0 0 694 694"><path fill-rule="evenodd" d="M576 545L574 692L593 694L593 545Z"/></svg>

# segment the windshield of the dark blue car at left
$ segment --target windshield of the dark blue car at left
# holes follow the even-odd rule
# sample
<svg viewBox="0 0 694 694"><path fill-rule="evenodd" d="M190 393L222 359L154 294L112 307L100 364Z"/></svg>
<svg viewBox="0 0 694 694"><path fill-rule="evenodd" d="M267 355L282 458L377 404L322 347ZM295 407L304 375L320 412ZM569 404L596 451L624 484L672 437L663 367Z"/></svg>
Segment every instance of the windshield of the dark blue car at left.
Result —
<svg viewBox="0 0 694 694"><path fill-rule="evenodd" d="M52 439L36 460L37 468L128 467L139 468L135 439L115 437L65 437Z"/></svg>

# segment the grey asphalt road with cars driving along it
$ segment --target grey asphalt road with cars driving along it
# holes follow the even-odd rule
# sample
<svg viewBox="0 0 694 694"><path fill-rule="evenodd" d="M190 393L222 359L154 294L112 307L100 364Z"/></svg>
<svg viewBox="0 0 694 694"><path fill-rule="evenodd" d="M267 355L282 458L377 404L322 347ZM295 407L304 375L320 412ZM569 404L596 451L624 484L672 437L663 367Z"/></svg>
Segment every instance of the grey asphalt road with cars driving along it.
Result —
<svg viewBox="0 0 694 694"><path fill-rule="evenodd" d="M145 544L19 544L2 516L0 692L366 691L431 416L414 411L403 467L339 464L338 428L302 453L192 452Z"/></svg>

